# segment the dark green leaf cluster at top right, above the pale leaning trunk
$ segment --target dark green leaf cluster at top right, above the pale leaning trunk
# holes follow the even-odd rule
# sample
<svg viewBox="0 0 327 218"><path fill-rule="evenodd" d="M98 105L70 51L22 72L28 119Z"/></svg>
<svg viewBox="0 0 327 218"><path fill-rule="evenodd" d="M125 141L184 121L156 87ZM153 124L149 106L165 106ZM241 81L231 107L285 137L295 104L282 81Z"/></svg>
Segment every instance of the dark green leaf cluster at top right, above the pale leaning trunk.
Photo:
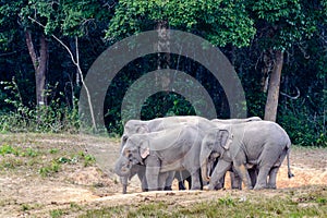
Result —
<svg viewBox="0 0 327 218"><path fill-rule="evenodd" d="M249 3L264 49L286 50L317 31L314 9L299 0L259 0ZM308 12L310 11L310 12Z"/></svg>

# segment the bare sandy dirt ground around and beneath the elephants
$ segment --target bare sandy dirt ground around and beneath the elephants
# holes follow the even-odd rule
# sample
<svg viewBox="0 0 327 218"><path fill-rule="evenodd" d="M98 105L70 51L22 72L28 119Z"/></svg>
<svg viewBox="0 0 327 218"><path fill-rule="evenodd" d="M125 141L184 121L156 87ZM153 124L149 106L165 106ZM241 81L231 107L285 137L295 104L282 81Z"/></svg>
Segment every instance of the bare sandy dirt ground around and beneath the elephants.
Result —
<svg viewBox="0 0 327 218"><path fill-rule="evenodd" d="M3 134L0 135L0 146L3 144L33 147L38 150L56 148L59 149L60 155L65 154L68 149L84 150L92 154L97 161L89 167L80 164L62 165L60 171L51 177L40 177L38 171L28 168L27 164L15 169L0 168L0 217L49 217L49 211L72 207L74 204L97 208L101 205L143 204L160 199L190 205L226 195L242 198L257 193L282 195L289 190L310 192L316 186L327 187L326 148L293 147L290 159L295 177L288 179L284 161L278 174L276 191L232 191L227 186L225 191L216 192L178 192L174 182L173 192L141 193L140 182L135 177L128 187L129 194L123 195L119 178L112 171L119 156L118 140L87 135ZM8 155L0 155L0 162L3 162L4 158L8 158ZM14 158L21 158L23 162L27 161L25 157ZM43 155L38 158L47 160L49 157ZM77 215L78 213L72 217Z"/></svg>

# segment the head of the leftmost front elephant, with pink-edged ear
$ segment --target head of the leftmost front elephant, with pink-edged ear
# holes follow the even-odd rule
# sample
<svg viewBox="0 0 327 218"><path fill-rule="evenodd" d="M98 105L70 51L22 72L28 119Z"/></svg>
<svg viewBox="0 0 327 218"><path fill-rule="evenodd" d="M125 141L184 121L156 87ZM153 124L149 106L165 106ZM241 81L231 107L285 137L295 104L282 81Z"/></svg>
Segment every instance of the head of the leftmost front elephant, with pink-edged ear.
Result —
<svg viewBox="0 0 327 218"><path fill-rule="evenodd" d="M132 135L126 140L121 150L121 155L116 162L114 171L120 177L126 177L134 165L144 164L144 159L149 155L149 143L140 135Z"/></svg>

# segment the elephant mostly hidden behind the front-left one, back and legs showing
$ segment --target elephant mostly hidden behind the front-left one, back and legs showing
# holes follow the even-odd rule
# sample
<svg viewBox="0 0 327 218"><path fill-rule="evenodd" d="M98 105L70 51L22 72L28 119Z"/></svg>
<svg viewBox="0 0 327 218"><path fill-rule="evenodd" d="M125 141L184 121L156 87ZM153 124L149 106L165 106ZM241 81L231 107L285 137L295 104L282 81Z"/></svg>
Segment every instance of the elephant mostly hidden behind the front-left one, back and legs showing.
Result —
<svg viewBox="0 0 327 218"><path fill-rule="evenodd" d="M177 128L177 126L180 126L183 124L195 124L195 125L198 125L198 128L201 128L201 129L210 129L210 128L216 126L209 120L202 118L202 117L197 117L197 116L177 116L177 117L157 118L157 119L149 120L149 121L130 120L124 125L124 132L121 137L121 149L125 145L128 138L133 134L158 132L158 131L162 131L162 130L167 130L167 129L173 129L173 128ZM128 181L132 177L137 174L140 180L141 180L141 178L143 178L144 172L142 172L142 171L137 172L138 169L140 169L140 167L137 165L135 165L132 167L130 175L120 178L120 181L123 186L123 191L122 191L123 194L126 193ZM178 178L178 180L179 180L179 187L185 189L183 185L183 179L186 179L186 177L183 177L183 179L181 179L180 178L181 172L175 172L175 174L177 174L175 178ZM182 174L185 174L185 172L183 172ZM190 179L189 179L189 181L190 181ZM141 180L141 182L142 182L142 186L143 186L142 190L145 191L146 190L145 181ZM169 183L170 183L170 181L168 180L168 182L166 184L166 190L171 189L171 187L169 187Z"/></svg>

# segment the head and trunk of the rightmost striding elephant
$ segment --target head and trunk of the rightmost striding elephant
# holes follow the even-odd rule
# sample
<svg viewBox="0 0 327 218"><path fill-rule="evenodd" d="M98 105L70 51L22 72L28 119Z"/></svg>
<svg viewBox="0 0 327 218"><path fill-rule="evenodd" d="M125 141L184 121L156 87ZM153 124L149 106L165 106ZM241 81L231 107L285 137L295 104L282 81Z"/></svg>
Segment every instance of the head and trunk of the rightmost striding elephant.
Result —
<svg viewBox="0 0 327 218"><path fill-rule="evenodd" d="M199 154L202 178L209 181L208 166L215 158L221 157L232 143L232 134L228 130L213 129L203 138ZM209 162L210 161L210 162Z"/></svg>

